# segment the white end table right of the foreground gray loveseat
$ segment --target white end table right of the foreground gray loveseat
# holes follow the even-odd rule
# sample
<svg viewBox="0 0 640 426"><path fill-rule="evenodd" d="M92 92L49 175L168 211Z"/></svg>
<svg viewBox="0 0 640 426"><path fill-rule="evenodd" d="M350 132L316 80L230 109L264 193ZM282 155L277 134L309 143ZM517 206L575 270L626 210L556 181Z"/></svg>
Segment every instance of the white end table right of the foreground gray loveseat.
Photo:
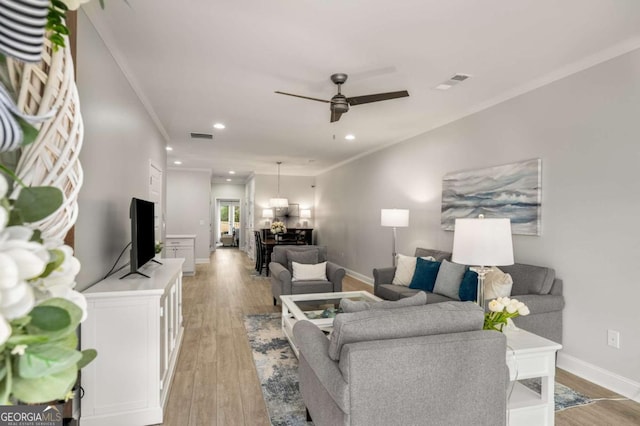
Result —
<svg viewBox="0 0 640 426"><path fill-rule="evenodd" d="M555 419L556 351L562 345L525 330L505 331L507 365L513 391L508 403L510 426L552 426ZM540 394L518 380L539 377Z"/></svg>

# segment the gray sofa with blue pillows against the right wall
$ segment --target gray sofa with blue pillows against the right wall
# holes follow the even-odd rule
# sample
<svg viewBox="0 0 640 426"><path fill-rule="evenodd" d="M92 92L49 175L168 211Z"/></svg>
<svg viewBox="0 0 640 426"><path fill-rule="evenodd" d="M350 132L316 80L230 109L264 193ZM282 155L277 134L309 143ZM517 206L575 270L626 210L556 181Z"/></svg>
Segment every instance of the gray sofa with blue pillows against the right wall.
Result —
<svg viewBox="0 0 640 426"><path fill-rule="evenodd" d="M437 261L451 260L451 253L440 250L416 248L416 257L432 256ZM554 342L562 343L562 280L556 278L555 271L543 266L516 263L500 266L500 269L513 278L511 296L525 303L531 313L514 319L517 327L530 331ZM374 293L387 300L398 300L412 296L420 290L391 284L395 268L376 268L373 270ZM427 292L427 303L451 301L453 299Z"/></svg>

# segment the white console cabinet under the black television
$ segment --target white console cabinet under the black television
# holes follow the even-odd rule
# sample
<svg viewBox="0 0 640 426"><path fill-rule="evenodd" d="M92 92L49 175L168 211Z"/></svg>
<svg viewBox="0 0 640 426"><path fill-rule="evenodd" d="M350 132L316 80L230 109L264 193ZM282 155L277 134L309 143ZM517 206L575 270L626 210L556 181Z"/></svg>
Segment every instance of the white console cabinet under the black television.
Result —
<svg viewBox="0 0 640 426"><path fill-rule="evenodd" d="M182 343L184 259L149 262L150 278L115 274L83 293L81 346L98 357L82 369L83 426L162 423Z"/></svg>

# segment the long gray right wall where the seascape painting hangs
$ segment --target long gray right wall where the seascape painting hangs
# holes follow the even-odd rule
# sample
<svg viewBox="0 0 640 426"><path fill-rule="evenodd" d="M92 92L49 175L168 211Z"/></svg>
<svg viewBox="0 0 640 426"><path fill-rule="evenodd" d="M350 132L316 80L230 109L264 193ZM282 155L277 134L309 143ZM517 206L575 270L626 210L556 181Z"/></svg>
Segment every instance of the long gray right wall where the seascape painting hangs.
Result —
<svg viewBox="0 0 640 426"><path fill-rule="evenodd" d="M451 250L453 233L440 228L442 176L541 158L543 231L514 236L516 261L564 279L560 365L627 383L639 398L638 70L635 51L318 176L319 242L371 277L391 263L380 209L397 207L411 211L400 253ZM620 349L607 346L607 329L620 331Z"/></svg>

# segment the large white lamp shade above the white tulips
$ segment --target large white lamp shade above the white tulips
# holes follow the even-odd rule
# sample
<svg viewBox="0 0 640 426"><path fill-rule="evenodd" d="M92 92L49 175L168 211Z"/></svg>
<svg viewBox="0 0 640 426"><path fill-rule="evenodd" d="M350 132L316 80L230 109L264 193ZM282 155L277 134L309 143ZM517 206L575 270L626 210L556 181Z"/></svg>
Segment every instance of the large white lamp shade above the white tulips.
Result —
<svg viewBox="0 0 640 426"><path fill-rule="evenodd" d="M513 265L509 219L456 219L451 260L463 265Z"/></svg>

